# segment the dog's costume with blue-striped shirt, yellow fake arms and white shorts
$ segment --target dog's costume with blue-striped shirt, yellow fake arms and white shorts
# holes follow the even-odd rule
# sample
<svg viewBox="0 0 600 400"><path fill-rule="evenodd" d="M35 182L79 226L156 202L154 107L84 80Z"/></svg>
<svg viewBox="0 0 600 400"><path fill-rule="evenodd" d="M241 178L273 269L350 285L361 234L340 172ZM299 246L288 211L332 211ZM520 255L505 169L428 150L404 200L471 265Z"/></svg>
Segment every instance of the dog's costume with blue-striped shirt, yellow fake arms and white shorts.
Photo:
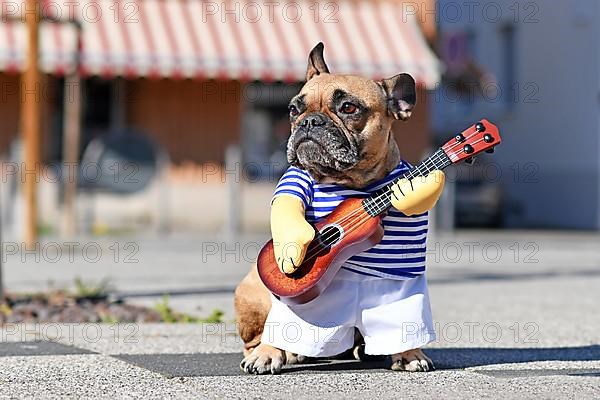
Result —
<svg viewBox="0 0 600 400"><path fill-rule="evenodd" d="M316 182L299 168L290 167L273 197L271 229L279 246L286 235L301 238L295 253L277 247L284 272L304 258L305 245L314 237L310 223L327 216L343 200L367 197L409 170L402 161L385 178L356 190ZM272 306L262 343L312 357L339 354L354 344L357 328L367 354L394 354L435 340L425 278L428 210L444 184L440 171L393 187L392 204L382 218L384 237L373 248L351 257L329 287L306 304L287 304L271 295ZM402 210L403 212L399 211ZM299 233L300 232L300 233Z"/></svg>

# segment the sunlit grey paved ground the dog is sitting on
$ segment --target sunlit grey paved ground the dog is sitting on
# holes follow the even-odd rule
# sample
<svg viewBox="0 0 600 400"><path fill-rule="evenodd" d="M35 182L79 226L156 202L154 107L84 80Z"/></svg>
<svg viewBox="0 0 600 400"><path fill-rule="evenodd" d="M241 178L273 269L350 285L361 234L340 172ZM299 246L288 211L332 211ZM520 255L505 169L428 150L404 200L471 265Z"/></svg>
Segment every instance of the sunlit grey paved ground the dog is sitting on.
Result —
<svg viewBox="0 0 600 400"><path fill-rule="evenodd" d="M20 252L7 256L13 290L41 289L48 280L68 286L75 274L111 276L128 301L151 303L171 291L172 304L199 315L222 309L226 323L5 326L0 397L600 397L597 235L462 232L432 238L429 280L439 336L429 349L434 372L394 373L382 367L385 361L320 361L279 376L244 376L237 370L231 290L263 239L245 237L236 249L202 237L120 238L116 259L114 240L96 241L103 249L96 262L79 250L73 262L64 254L61 262L50 262L50 253L38 260ZM124 262L127 243L137 245L137 262Z"/></svg>

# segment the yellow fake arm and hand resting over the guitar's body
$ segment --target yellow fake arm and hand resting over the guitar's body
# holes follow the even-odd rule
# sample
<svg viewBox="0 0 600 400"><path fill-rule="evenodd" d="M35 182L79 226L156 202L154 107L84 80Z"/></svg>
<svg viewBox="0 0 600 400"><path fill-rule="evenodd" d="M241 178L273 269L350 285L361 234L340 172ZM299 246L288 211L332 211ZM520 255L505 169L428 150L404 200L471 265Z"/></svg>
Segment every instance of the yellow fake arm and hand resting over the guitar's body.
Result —
<svg viewBox="0 0 600 400"><path fill-rule="evenodd" d="M271 234L275 261L284 274L298 269L315 229L304 218L304 204L291 196L280 196L271 206Z"/></svg>

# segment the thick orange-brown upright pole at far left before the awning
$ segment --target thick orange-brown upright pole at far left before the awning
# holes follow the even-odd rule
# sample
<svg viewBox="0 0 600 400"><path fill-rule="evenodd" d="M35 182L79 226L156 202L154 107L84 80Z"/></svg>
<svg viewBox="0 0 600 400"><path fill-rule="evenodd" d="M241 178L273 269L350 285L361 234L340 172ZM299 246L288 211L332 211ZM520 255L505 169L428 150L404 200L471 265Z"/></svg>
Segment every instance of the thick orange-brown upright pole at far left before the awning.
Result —
<svg viewBox="0 0 600 400"><path fill-rule="evenodd" d="M34 248L37 243L37 179L40 168L40 101L41 82L38 70L38 1L26 0L25 24L27 28L27 57L21 82L21 134L25 147L22 174L25 200L25 246Z"/></svg>

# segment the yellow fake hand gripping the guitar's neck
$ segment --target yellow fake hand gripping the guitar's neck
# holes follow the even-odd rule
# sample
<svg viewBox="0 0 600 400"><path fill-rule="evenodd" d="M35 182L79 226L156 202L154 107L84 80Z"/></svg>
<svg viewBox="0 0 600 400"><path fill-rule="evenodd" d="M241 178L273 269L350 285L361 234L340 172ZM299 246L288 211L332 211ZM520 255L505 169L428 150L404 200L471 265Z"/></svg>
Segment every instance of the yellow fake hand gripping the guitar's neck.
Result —
<svg viewBox="0 0 600 400"><path fill-rule="evenodd" d="M422 214L435 206L444 189L446 176L442 171L432 171L427 177L412 181L401 179L392 186L392 205L406 215Z"/></svg>

